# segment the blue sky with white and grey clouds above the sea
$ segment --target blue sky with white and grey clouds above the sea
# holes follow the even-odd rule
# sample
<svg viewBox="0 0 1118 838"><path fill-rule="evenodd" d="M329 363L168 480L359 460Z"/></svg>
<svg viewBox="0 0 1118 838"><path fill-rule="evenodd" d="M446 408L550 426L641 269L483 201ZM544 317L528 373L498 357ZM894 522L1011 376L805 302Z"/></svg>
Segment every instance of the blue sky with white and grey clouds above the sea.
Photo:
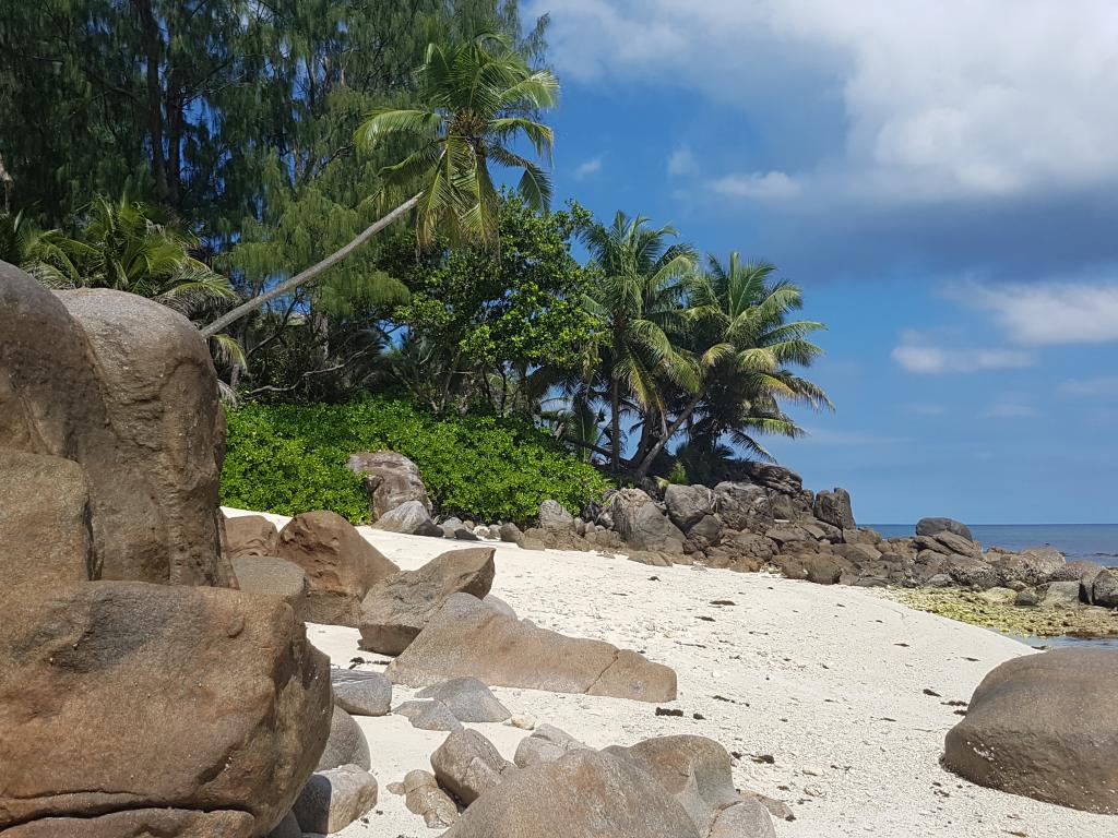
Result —
<svg viewBox="0 0 1118 838"><path fill-rule="evenodd" d="M529 0L559 201L775 263L834 413L768 439L865 523L1110 523L1118 3Z"/></svg>

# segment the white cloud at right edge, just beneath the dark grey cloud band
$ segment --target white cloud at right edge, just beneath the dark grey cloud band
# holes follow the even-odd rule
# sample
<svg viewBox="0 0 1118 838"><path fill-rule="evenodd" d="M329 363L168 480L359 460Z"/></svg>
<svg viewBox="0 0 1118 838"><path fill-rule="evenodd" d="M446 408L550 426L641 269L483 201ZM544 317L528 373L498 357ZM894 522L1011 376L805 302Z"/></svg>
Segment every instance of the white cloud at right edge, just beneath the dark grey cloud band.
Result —
<svg viewBox="0 0 1118 838"><path fill-rule="evenodd" d="M969 283L948 293L992 312L1006 335L1023 345L1118 341L1118 282Z"/></svg>

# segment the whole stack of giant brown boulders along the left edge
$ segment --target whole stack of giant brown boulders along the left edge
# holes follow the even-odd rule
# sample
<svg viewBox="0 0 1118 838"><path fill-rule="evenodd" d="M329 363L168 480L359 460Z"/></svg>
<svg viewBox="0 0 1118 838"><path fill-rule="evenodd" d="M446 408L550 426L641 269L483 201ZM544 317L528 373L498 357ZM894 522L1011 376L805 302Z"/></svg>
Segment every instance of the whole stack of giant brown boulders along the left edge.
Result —
<svg viewBox="0 0 1118 838"><path fill-rule="evenodd" d="M0 831L264 836L330 735L328 659L235 590L198 331L0 263Z"/></svg>

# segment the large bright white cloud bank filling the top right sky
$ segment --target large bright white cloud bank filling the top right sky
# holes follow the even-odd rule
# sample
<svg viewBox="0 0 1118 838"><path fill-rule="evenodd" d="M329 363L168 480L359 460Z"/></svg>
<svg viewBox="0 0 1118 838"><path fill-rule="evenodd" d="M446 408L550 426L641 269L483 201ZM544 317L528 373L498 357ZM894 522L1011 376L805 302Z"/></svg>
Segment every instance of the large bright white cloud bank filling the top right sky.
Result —
<svg viewBox="0 0 1118 838"><path fill-rule="evenodd" d="M570 78L666 78L741 108L761 131L831 96L836 140L805 182L891 201L1118 182L1118 108L1100 104L1118 99L1112 0L551 7L534 0L530 11L553 11L549 38Z"/></svg>

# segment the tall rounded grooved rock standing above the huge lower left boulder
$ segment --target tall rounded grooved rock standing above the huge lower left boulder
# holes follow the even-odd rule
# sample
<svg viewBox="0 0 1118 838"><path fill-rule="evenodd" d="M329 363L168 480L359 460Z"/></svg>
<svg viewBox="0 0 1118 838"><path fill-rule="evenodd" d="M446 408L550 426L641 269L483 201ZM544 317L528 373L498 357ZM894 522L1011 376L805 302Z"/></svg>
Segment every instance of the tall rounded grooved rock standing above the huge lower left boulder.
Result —
<svg viewBox="0 0 1118 838"><path fill-rule="evenodd" d="M224 416L198 330L131 294L51 294L4 263L0 323L0 447L82 467L89 578L229 584Z"/></svg>

